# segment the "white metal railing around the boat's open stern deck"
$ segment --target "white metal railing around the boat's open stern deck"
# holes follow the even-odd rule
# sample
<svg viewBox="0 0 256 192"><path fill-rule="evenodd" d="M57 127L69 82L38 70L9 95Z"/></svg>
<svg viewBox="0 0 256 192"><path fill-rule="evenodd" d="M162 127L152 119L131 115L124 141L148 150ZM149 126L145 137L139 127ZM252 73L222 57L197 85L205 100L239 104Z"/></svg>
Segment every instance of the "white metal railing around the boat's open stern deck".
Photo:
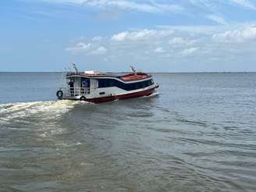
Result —
<svg viewBox="0 0 256 192"><path fill-rule="evenodd" d="M90 94L89 87L61 87L59 90L63 91L64 98L74 98Z"/></svg>

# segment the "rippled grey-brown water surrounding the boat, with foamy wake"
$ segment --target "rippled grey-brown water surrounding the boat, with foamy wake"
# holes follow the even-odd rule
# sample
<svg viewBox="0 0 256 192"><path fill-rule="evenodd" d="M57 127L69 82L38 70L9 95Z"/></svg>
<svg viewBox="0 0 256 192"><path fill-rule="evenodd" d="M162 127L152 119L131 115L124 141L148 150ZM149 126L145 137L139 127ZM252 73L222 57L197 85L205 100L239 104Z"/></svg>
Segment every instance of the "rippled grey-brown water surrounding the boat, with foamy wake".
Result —
<svg viewBox="0 0 256 192"><path fill-rule="evenodd" d="M256 73L155 73L151 97L57 101L0 73L0 191L256 191Z"/></svg>

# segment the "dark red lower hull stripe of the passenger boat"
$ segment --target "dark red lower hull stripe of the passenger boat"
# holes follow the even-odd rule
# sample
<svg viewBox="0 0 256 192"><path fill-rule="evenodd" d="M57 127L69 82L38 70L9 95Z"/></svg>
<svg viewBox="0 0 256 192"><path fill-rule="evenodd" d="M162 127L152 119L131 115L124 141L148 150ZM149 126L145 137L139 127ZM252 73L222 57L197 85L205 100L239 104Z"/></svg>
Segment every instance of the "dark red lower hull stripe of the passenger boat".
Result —
<svg viewBox="0 0 256 192"><path fill-rule="evenodd" d="M131 94L122 94L122 95L110 96L105 98L90 98L90 99L87 99L86 101L93 102L93 103L101 103L105 101L113 101L116 99L139 98L143 96L148 96L152 94L154 91L155 91L155 87L145 91L139 91Z"/></svg>

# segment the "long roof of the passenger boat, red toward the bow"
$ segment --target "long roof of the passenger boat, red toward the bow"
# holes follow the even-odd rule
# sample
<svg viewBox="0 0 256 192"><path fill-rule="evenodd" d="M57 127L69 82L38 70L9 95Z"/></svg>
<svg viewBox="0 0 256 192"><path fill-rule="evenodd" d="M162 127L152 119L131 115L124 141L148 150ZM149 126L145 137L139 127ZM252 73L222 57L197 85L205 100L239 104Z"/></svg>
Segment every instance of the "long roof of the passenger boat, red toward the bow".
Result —
<svg viewBox="0 0 256 192"><path fill-rule="evenodd" d="M84 72L69 72L66 74L66 78L73 77L73 76L84 76L87 78L101 78L101 77L113 77L118 78L123 81L133 81L133 80L143 80L151 77L151 75L147 73L129 73L125 75L115 75L115 74L106 74L106 73L95 73L95 74L88 74Z"/></svg>

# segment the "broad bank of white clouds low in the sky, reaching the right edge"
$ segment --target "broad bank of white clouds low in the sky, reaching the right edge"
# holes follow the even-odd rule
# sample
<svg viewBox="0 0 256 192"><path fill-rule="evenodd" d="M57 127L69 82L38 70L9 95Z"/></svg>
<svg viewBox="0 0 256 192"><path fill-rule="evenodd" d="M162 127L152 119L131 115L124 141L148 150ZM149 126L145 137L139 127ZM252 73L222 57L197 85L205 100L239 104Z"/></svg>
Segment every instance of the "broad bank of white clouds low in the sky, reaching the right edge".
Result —
<svg viewBox="0 0 256 192"><path fill-rule="evenodd" d="M84 42L86 39L77 40L84 43L67 49L90 57L97 56L102 61L108 59L112 63L118 63L121 59L148 63L195 63L199 60L205 63L215 60L231 63L236 59L254 59L256 41L251 40L256 40L256 27L253 26L252 23L236 23L123 31L104 37L102 41L94 41L93 37L89 40L91 45ZM152 53L158 56L154 58Z"/></svg>

